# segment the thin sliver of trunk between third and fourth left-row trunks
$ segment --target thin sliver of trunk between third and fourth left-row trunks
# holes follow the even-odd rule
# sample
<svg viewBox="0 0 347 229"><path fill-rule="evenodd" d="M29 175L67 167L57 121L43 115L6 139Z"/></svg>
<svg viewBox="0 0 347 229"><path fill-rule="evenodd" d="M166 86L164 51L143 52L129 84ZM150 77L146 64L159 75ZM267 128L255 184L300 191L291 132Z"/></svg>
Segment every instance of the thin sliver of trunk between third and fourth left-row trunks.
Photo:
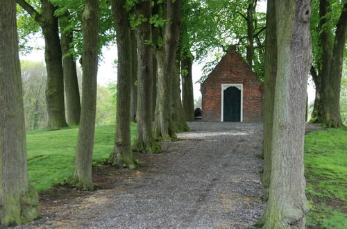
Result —
<svg viewBox="0 0 347 229"><path fill-rule="evenodd" d="M132 51L132 73L131 73L131 92L130 92L130 121L136 122L137 110L137 39L135 30L130 31L131 34L131 51Z"/></svg>

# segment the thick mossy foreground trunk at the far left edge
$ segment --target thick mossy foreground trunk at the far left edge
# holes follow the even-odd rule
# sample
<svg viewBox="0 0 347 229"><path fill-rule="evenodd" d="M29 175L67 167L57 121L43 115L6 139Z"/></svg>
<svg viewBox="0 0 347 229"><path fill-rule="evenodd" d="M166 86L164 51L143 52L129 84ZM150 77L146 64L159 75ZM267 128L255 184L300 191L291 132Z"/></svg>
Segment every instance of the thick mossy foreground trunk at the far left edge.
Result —
<svg viewBox="0 0 347 229"><path fill-rule="evenodd" d="M10 226L38 216L38 196L28 181L15 1L2 1L0 15L0 221Z"/></svg>

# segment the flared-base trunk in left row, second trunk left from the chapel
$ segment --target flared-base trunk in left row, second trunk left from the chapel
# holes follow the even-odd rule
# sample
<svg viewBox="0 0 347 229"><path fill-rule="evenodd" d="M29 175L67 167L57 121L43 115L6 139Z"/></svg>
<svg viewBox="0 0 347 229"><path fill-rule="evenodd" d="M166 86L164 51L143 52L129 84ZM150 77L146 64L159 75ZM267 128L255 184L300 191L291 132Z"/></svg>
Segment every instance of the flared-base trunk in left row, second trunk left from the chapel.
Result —
<svg viewBox="0 0 347 229"><path fill-rule="evenodd" d="M182 100L180 99L180 61L176 60L172 69L172 90L171 90L171 119L174 132L189 131L189 127L184 120Z"/></svg>

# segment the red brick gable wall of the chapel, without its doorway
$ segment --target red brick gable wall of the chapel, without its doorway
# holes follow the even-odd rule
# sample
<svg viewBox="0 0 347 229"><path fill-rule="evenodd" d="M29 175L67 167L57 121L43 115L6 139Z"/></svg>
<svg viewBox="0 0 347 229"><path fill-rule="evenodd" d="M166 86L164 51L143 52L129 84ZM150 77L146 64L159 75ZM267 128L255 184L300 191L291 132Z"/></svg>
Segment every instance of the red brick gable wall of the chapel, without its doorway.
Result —
<svg viewBox="0 0 347 229"><path fill-rule="evenodd" d="M203 121L221 121L221 85L243 85L243 121L262 121L262 83L230 48L201 84Z"/></svg>

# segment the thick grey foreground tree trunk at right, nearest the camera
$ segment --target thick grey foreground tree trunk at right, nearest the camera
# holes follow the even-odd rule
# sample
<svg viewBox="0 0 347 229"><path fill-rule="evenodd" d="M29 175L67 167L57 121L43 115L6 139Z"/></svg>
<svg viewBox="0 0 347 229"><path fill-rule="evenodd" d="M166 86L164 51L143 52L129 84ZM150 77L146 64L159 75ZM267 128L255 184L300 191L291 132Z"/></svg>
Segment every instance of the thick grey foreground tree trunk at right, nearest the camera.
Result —
<svg viewBox="0 0 347 229"><path fill-rule="evenodd" d="M263 228L305 228L303 144L311 65L310 0L276 1L278 67L271 181Z"/></svg>

